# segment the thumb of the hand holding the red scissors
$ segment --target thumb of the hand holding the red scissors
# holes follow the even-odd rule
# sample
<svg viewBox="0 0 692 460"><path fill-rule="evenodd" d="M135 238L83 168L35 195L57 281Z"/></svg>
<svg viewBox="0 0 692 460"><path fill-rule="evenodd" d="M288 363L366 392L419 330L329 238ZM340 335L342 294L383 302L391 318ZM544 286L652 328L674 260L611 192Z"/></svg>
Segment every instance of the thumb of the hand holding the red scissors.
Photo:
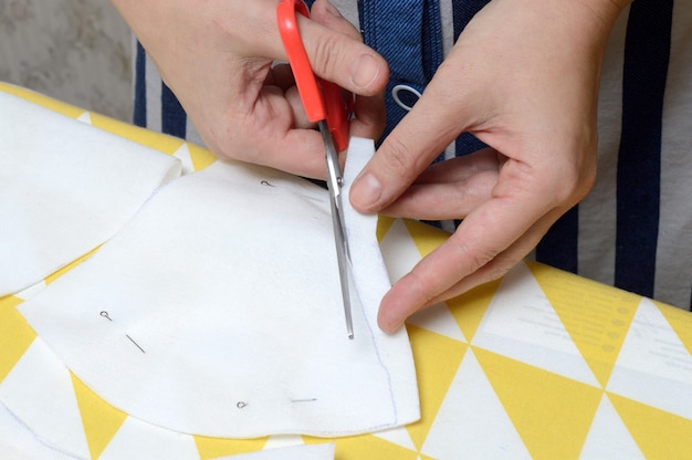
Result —
<svg viewBox="0 0 692 460"><path fill-rule="evenodd" d="M361 96L385 88L387 61L363 43L360 33L328 0L315 1L311 20L300 14L297 20L305 51L319 77Z"/></svg>

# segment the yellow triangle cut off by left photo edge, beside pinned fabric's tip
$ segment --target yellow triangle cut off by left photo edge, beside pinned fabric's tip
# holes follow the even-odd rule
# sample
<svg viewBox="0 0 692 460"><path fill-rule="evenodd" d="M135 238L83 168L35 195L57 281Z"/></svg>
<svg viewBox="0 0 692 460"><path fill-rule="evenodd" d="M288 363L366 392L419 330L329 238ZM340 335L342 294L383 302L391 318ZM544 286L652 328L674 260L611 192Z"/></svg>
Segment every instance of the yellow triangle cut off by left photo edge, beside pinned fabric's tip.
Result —
<svg viewBox="0 0 692 460"><path fill-rule="evenodd" d="M20 303L22 300L13 295L0 297L0 381L36 338L36 333L14 309Z"/></svg>

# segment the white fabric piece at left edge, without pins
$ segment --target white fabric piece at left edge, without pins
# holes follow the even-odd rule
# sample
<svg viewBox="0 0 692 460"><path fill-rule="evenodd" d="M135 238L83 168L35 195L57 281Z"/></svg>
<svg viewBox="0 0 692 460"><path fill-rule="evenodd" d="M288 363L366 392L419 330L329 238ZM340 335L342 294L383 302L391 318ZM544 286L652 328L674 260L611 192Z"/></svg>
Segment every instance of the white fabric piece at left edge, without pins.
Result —
<svg viewBox="0 0 692 460"><path fill-rule="evenodd" d="M179 161L0 93L0 296L115 234Z"/></svg>

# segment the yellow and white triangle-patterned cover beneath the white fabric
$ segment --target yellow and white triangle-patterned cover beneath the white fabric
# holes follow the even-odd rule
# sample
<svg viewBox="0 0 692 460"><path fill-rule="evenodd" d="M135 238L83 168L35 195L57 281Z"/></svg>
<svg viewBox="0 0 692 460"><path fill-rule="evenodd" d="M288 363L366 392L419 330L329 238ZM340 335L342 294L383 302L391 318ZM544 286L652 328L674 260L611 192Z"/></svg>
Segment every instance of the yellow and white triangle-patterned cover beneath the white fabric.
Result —
<svg viewBox="0 0 692 460"><path fill-rule="evenodd" d="M15 86L0 91L175 155L191 170L214 160L180 139ZM386 259L397 242L395 271L447 237L390 219L380 219L379 230ZM339 439L212 439L129 417L81 383L29 327L15 306L30 295L0 297L0 402L61 456L192 460L334 442L339 460L692 458L692 315L530 261L407 323L420 421ZM11 446L2 437L0 447Z"/></svg>

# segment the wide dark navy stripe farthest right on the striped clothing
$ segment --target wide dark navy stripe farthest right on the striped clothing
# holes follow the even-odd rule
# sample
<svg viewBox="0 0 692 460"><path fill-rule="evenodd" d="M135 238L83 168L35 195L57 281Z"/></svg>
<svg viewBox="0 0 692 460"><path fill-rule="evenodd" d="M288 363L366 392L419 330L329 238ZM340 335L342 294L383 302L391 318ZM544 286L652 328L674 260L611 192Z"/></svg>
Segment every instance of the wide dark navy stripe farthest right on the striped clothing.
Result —
<svg viewBox="0 0 692 460"><path fill-rule="evenodd" d="M632 2L625 43L615 284L653 296L673 0Z"/></svg>

